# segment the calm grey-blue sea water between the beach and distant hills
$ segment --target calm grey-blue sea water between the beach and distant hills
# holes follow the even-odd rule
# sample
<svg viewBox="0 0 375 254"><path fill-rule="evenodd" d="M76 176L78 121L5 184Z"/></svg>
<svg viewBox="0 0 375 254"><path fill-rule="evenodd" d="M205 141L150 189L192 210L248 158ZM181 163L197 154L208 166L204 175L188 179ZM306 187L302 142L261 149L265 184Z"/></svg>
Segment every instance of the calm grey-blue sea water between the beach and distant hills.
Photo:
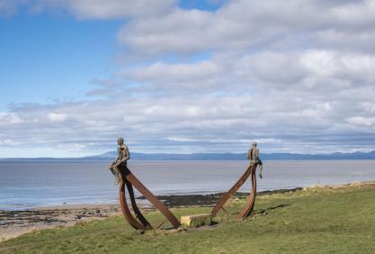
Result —
<svg viewBox="0 0 375 254"><path fill-rule="evenodd" d="M156 195L227 191L246 161L130 161L129 168ZM41 205L117 202L108 163L0 162L0 210ZM265 161L258 190L375 180L375 160ZM249 181L240 189L248 191Z"/></svg>

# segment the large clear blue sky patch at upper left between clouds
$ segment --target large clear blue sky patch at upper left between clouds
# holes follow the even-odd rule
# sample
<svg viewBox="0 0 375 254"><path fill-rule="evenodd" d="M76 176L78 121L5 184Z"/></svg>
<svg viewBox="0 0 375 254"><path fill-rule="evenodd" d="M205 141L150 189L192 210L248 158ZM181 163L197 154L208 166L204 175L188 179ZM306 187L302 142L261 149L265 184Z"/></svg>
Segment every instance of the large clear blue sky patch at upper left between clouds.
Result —
<svg viewBox="0 0 375 254"><path fill-rule="evenodd" d="M1 109L13 103L84 98L93 77L115 67L115 33L121 24L25 11L3 17Z"/></svg>

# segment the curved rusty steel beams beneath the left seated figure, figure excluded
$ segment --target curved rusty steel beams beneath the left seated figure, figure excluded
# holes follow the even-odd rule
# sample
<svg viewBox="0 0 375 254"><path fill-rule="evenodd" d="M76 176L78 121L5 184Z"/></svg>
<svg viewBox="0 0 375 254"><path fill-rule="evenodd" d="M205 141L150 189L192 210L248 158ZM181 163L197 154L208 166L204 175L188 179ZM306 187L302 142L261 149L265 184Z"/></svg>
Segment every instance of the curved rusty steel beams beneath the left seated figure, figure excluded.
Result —
<svg viewBox="0 0 375 254"><path fill-rule="evenodd" d="M135 177L127 168L126 166L121 167L121 175L122 180L119 186L119 200L121 205L121 211L125 217L125 220L129 222L129 224L137 230L151 230L153 229L152 225L147 222L146 218L143 216L143 214L139 211L138 206L136 204L136 200L134 197L134 191L133 186L135 186L138 191L144 195L147 200L156 206L156 208L160 211L160 213L163 213L165 215L166 220L172 223L174 228L178 228L181 223L177 220L177 218L174 216L171 211L169 211L168 208L166 208L165 204L161 203L155 195L153 195L146 186L144 186L137 177ZM129 210L129 205L127 203L126 199L126 191L125 186L128 189L129 192L129 198L130 203L133 208L134 213L136 214L136 217L134 218ZM160 224L161 225L161 224Z"/></svg>

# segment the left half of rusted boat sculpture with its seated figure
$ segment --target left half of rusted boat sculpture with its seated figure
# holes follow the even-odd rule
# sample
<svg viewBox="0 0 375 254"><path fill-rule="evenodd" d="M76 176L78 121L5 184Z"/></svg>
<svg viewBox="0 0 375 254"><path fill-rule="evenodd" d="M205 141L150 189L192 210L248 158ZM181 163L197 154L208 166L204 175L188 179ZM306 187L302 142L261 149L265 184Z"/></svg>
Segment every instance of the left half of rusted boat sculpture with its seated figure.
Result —
<svg viewBox="0 0 375 254"><path fill-rule="evenodd" d="M139 211L136 199L134 196L134 189L135 186L138 191L144 195L147 200L156 206L156 209L165 215L166 220L172 223L174 228L178 228L181 223L174 217L174 214L166 208L166 206L160 202L155 195L153 195L146 186L144 186L137 177L135 177L129 170L127 166L127 161L130 159L128 147L124 144L124 140L119 138L117 140L117 144L119 145L118 148L118 157L115 159L111 166L110 170L112 174L115 176L116 183L119 184L119 200L121 205L121 212L123 213L125 220L129 222L129 224L137 229L137 230L152 230L152 225L147 222L145 216ZM126 199L126 189L129 192L129 198L131 207L133 208L133 212L136 214L134 218L130 212L129 205ZM160 223L156 228L160 228L166 220Z"/></svg>

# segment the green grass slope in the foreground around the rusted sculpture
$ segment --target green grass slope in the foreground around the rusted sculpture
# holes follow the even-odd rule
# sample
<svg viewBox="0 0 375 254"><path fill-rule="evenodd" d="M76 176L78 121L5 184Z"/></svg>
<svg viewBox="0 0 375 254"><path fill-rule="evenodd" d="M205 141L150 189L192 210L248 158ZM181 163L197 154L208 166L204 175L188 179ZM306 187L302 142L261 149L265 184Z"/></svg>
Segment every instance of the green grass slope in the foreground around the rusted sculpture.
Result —
<svg viewBox="0 0 375 254"><path fill-rule="evenodd" d="M209 230L138 234L121 216L35 231L0 243L0 253L375 253L375 187L315 188L257 199L255 216L237 221L232 200ZM209 207L174 209L179 217ZM147 219L162 221L159 213Z"/></svg>

